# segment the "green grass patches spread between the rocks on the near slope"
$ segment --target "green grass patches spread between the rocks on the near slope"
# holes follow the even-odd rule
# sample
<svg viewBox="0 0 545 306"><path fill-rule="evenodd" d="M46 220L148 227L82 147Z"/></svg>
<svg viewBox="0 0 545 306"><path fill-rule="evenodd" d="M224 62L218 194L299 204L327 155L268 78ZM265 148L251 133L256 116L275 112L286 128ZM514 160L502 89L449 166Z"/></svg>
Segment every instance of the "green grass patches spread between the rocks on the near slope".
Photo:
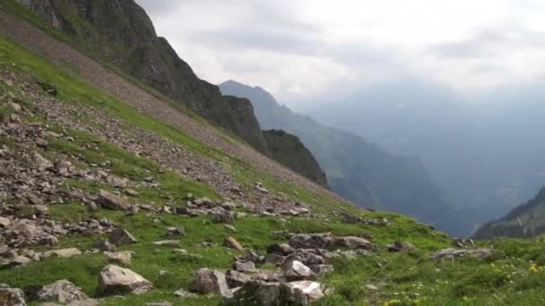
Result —
<svg viewBox="0 0 545 306"><path fill-rule="evenodd" d="M16 64L15 67L13 63ZM272 190L284 191L294 199L313 202L324 210L341 205L316 199L316 196L307 191L275 180L272 175L258 173L243 161L227 157L219 151L203 146L197 140L192 140L168 125L137 113L116 99L75 80L74 76L57 70L5 40L0 40L0 65L4 68L9 67L15 72L30 72L40 80L56 84L61 89L60 98L66 103L78 101L103 108L108 113L119 116L127 124L136 124L150 129L207 157L229 160L229 166L232 167L233 174L240 183L250 184L259 179ZM5 87L0 86L0 89L2 90L0 96L2 96ZM20 95L22 101L25 100L21 92L18 90L14 92ZM1 106L0 112L8 113L10 109ZM185 182L175 174L159 174L157 166L150 160L134 157L115 146L101 144L99 152L82 150L82 143L79 141L91 140L91 136L82 132L71 133L78 141L75 143L55 142L48 151L44 152L44 155L78 152L86 154L91 160L92 158L108 158L114 161L113 170L119 175L140 178L143 174L151 174L158 177L161 186L165 188L162 195L179 197L183 192L192 191L199 196L216 196L213 191L201 184ZM9 146L17 145L9 140L0 140ZM174 185L170 188L168 182ZM81 182L69 184L79 184L89 188L90 191L104 187L82 185ZM143 198L135 200L154 200L157 204L161 203L159 194L140 191ZM157 290L124 299L109 298L106 300L107 304L140 305L143 302L158 301L170 301L179 305L217 304L219 299L215 297L182 301L175 298L172 292L179 287L186 287L189 276L195 268L228 268L231 258L237 254L236 251L221 247L221 241L227 233L221 225L212 225L208 222L206 217L188 218L169 215L148 217L144 214L125 217L122 213L111 211L91 213L83 209L79 203L54 206L51 208L51 215L58 220L78 220L93 215L108 217L124 225L139 239L139 243L122 250L136 252L131 268L150 279ZM160 223L153 223L152 220L158 217L160 217ZM329 223L299 218L281 223L269 217L247 217L235 223L238 229L235 236L244 245L260 252L264 252L268 243L278 241L272 237L271 233L281 229L301 233L328 231L334 234L366 234L372 236L373 242L381 245L383 250L386 243L394 240L412 242L419 249L410 255L377 251L361 259L336 262L336 272L332 276L321 279L325 285L331 285L335 290L332 296L319 303L322 305L367 304L364 301L384 302L388 305L541 305L545 303L545 293L542 291L545 285L545 271L540 268L545 265L545 255L543 255L545 242L542 239L493 242L496 254L486 260L464 259L456 262L435 263L428 259L428 256L431 251L449 245L449 239L444 234L418 225L408 217L380 213L368 214L368 217L388 217L394 221L394 225L346 225L334 218ZM199 258L182 259L169 248L151 247L149 242L163 239L164 229L169 225L186 228L187 236L182 238L182 246L187 251L200 255ZM86 250L92 242L97 240L99 237L70 237L63 239L61 245L77 246ZM198 242L205 240L217 242L219 246L208 249L196 246ZM538 268L531 268L533 264ZM97 274L105 265L106 261L99 255L82 256L76 259L47 259L24 268L0 270L0 280L10 285L24 287L45 285L57 279L67 278L94 296L98 285ZM166 270L169 273L160 276L160 270ZM369 291L365 288L367 284L377 285L380 290Z"/></svg>

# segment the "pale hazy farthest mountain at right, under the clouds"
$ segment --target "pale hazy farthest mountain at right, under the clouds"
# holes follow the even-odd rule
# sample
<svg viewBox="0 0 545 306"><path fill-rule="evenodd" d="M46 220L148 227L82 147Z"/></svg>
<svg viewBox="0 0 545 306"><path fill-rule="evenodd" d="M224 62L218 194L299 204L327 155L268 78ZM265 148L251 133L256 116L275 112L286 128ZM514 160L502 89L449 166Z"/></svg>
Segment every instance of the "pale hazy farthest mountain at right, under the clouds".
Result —
<svg viewBox="0 0 545 306"><path fill-rule="evenodd" d="M545 185L538 92L495 89L465 101L437 84L400 81L359 90L312 115L389 152L419 157L482 224Z"/></svg>

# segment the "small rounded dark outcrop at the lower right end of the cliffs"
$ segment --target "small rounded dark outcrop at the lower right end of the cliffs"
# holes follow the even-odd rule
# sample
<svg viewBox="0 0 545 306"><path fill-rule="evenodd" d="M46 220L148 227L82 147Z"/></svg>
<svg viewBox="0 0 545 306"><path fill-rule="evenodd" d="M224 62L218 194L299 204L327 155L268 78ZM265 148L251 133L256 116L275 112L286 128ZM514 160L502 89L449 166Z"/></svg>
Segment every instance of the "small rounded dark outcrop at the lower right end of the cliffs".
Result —
<svg viewBox="0 0 545 306"><path fill-rule="evenodd" d="M264 131L272 158L327 188L324 171L297 136L282 130Z"/></svg>

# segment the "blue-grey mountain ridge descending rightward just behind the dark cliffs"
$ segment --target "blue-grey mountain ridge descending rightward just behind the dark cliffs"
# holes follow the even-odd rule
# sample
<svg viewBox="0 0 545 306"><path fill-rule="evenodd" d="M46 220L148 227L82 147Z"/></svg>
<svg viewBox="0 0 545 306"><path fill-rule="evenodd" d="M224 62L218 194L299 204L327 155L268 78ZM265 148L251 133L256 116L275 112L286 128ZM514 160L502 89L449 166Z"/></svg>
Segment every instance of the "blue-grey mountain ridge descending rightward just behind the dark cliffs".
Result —
<svg viewBox="0 0 545 306"><path fill-rule="evenodd" d="M318 123L281 106L259 87L220 84L223 94L248 98L265 129L297 135L323 166L333 191L376 209L418 217L452 234L470 234L471 213L458 210L417 158L398 157L359 136Z"/></svg>

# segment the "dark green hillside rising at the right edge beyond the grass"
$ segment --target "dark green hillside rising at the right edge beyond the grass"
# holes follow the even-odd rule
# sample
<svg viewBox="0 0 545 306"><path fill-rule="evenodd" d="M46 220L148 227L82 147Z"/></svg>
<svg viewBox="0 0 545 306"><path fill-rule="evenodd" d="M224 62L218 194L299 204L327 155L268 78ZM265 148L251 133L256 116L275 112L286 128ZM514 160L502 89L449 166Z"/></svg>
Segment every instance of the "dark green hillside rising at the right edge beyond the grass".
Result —
<svg viewBox="0 0 545 306"><path fill-rule="evenodd" d="M545 188L528 202L511 210L505 217L481 226L475 239L497 237L529 238L545 233Z"/></svg>

